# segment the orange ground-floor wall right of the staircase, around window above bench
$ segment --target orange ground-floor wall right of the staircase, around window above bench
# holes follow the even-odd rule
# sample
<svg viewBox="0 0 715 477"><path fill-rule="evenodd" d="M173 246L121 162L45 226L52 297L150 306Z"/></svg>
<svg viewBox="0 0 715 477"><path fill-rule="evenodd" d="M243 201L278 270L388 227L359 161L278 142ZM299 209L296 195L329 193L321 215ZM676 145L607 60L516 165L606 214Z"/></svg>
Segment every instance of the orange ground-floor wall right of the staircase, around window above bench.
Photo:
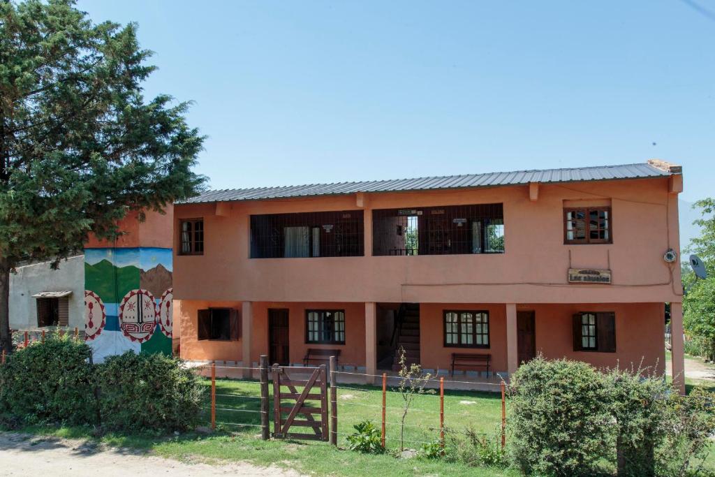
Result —
<svg viewBox="0 0 715 477"><path fill-rule="evenodd" d="M443 310L488 310L489 348L445 348ZM420 304L420 360L426 369L450 369L452 353L490 354L490 371L505 371L506 307L495 304L421 303Z"/></svg>

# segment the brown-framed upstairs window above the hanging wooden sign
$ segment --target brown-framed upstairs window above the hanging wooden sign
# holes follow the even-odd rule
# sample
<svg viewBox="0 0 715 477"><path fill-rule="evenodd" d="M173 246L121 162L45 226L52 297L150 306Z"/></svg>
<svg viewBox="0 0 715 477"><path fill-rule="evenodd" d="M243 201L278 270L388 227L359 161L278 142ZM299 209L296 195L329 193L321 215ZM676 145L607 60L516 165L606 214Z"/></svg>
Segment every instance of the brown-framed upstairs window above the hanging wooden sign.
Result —
<svg viewBox="0 0 715 477"><path fill-rule="evenodd" d="M611 207L564 209L563 220L563 242L566 244L613 242Z"/></svg>

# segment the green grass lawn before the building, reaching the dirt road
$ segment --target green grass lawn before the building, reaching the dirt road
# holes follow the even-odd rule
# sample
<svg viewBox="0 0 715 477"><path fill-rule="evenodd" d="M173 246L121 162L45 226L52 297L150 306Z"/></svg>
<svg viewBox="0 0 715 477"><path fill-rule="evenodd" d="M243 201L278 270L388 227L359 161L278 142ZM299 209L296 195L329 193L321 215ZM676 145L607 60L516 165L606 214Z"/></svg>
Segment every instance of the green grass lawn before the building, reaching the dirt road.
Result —
<svg viewBox="0 0 715 477"><path fill-rule="evenodd" d="M209 381L205 381L209 387ZM272 393L272 386L270 387ZM498 468L473 468L460 463L430 461L426 458L395 458L392 453L382 456L365 456L345 449L345 436L352 432L352 425L363 419L372 420L380 426L382 393L379 388L365 385L340 385L338 389L338 447L317 441L261 441L260 386L255 381L217 380L217 433L185 433L181 436L127 436L109 434L102 438L92 437L87 428L26 428L34 434L50 434L65 438L98 439L109 446L134 448L154 456L174 458L181 461L247 461L259 466L277 465L292 468L317 476L518 476L513 470ZM208 393L207 393L208 396ZM388 392L387 398L387 446L395 451L399 447L399 427L402 398ZM293 401L295 402L295 401ZM287 404L288 402L286 402ZM210 423L210 401L204 403L204 425ZM251 412L240 412L251 411ZM316 416L317 417L317 416ZM272 413L270 415L271 431ZM236 426L243 423L250 426ZM439 396L423 395L415 398L413 410L405 421L407 448L420 448L421 442L438 438ZM478 431L498 438L501 423L501 396L496 393L472 393L445 391L445 425L455 431L471 426ZM306 432L309 428L293 428Z"/></svg>

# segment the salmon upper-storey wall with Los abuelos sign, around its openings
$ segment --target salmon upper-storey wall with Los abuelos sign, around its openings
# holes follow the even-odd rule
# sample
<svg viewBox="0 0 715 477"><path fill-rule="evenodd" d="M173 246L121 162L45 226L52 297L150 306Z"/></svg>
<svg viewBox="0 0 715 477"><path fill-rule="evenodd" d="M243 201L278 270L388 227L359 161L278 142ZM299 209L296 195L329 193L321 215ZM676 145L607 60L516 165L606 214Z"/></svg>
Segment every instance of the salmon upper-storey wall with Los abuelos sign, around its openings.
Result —
<svg viewBox="0 0 715 477"><path fill-rule="evenodd" d="M565 200L610 200L613 244L564 245ZM174 297L255 302L681 301L679 263L669 266L662 258L669 248L679 250L677 195L669 193L667 177L541 185L536 202L529 200L528 186L366 194L365 227L371 231L373 209L494 202L503 203L504 254L253 260L250 215L358 210L356 196L177 205L175 232L182 217L204 217L204 255L174 257ZM178 242L178 233L173 240ZM368 234L368 255L371 240ZM611 268L613 285L568 284L570 264Z"/></svg>

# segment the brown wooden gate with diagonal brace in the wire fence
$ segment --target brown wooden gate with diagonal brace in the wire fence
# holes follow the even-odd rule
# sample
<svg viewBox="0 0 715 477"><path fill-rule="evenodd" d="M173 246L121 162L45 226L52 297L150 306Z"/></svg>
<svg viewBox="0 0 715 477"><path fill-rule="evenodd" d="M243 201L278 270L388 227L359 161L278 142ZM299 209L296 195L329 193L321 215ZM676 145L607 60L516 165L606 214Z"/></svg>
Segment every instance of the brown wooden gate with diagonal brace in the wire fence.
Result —
<svg viewBox="0 0 715 477"><path fill-rule="evenodd" d="M311 373L310 378L307 380L292 378L292 376L295 377L299 373L304 378L307 373ZM325 379L325 365L320 365L320 368L283 368L279 365L273 365L272 375L273 437L327 441L327 381ZM300 392L297 389L299 387L302 387ZM282 388L287 388L288 392L282 392ZM295 405L285 403L285 400L295 400ZM320 401L320 407L306 405L307 401ZM287 414L285 419L283 418L284 414ZM298 415L304 418L296 419ZM319 415L320 421L317 421L313 417L314 415ZM313 433L291 433L289 431L293 426L312 428Z"/></svg>

